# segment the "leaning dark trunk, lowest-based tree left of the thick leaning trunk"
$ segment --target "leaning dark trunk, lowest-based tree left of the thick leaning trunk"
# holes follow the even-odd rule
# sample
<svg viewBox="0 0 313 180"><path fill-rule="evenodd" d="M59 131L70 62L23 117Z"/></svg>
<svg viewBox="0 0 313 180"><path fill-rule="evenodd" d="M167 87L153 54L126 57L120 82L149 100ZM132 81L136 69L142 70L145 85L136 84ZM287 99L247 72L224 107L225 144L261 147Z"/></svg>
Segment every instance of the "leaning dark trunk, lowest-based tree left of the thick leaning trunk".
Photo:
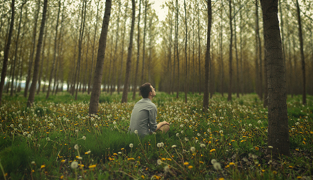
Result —
<svg viewBox="0 0 313 180"><path fill-rule="evenodd" d="M41 21L41 26L40 26L40 31L39 31L36 57L35 57L35 61L34 61L33 79L32 79L31 85L30 85L29 96L28 96L28 100L27 100L27 107L30 107L33 104L34 99L35 99L38 74L39 74L39 62L40 62L40 55L41 55L41 47L42 47L42 43L43 43L44 30L45 30L45 19L46 19L45 17L47 14L47 6L48 6L48 0L45 0L44 1L44 10L43 10L43 20Z"/></svg>

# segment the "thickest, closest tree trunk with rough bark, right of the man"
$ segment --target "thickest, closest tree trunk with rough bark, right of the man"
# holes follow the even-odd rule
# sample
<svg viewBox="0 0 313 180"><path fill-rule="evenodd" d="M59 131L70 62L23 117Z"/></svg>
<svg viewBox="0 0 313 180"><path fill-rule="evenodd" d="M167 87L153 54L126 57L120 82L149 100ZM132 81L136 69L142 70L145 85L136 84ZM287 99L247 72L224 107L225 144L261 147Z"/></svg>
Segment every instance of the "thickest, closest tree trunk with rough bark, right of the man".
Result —
<svg viewBox="0 0 313 180"><path fill-rule="evenodd" d="M290 155L285 68L278 0L261 0L268 74L268 151Z"/></svg>

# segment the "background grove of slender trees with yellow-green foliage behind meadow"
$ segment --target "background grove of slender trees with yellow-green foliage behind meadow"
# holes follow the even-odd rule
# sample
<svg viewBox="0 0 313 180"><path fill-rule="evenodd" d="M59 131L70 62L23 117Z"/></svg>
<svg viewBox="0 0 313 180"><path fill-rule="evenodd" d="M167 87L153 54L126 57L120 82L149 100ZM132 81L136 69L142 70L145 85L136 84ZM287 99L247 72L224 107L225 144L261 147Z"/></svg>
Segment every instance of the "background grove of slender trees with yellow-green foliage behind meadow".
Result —
<svg viewBox="0 0 313 180"><path fill-rule="evenodd" d="M45 92L46 98L59 91L68 91L75 98L79 91L91 92L104 2L48 0L45 27L40 32L44 2L0 2L0 100L2 93L13 96L21 90L25 97L29 96L28 90L36 79L37 93ZM101 91L137 92L140 84L149 81L158 91L177 96L179 92L208 91L207 97L219 92L223 96L227 93L231 100L234 93L239 97L255 92L267 105L259 0L213 1L211 19L206 0L166 0L162 7L168 10L164 20L159 20L153 3L156 2L135 1L133 22L132 1L112 1ZM278 4L286 92L301 94L305 103L305 95L313 94L309 78L313 76L313 2L279 0Z"/></svg>

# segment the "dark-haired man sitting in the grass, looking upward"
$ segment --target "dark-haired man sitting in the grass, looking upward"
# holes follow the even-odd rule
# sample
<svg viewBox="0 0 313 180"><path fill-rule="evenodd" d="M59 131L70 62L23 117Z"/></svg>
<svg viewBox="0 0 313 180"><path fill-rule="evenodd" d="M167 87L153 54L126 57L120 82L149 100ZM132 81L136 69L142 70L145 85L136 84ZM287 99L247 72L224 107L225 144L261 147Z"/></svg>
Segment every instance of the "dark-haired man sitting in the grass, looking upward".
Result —
<svg viewBox="0 0 313 180"><path fill-rule="evenodd" d="M153 132L166 133L170 130L169 123L166 121L156 123L156 104L152 98L156 96L155 88L149 82L144 83L139 88L142 99L136 102L131 115L131 123L128 132L145 136Z"/></svg>

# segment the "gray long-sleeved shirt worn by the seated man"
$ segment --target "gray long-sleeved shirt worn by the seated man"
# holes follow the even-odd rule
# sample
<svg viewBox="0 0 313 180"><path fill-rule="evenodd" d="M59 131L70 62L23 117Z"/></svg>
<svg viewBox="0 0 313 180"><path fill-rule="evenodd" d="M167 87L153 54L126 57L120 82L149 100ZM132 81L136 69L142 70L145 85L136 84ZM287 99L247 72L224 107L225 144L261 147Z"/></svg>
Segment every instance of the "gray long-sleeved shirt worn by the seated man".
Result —
<svg viewBox="0 0 313 180"><path fill-rule="evenodd" d="M148 135L156 131L156 104L149 98L143 98L136 102L131 115L131 123L128 132L138 131L138 135Z"/></svg>

